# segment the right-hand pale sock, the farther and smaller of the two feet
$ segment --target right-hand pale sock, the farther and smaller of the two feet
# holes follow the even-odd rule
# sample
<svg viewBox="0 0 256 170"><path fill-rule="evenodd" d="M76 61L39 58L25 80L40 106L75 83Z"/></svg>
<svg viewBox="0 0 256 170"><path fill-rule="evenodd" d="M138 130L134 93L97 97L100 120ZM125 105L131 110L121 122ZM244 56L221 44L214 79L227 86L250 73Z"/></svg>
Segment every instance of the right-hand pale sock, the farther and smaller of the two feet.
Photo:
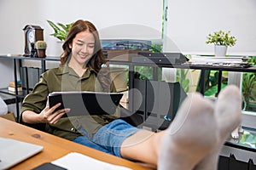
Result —
<svg viewBox="0 0 256 170"><path fill-rule="evenodd" d="M241 123L241 93L230 85L218 95L214 114L218 122L218 143L215 149L196 165L195 170L218 169L218 156L225 140Z"/></svg>

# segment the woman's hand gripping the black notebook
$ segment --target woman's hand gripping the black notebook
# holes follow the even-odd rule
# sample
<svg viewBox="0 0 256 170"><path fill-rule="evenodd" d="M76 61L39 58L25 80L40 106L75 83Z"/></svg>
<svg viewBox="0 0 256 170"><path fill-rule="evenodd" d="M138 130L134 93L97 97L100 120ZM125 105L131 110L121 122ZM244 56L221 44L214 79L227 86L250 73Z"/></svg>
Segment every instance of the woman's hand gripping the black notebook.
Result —
<svg viewBox="0 0 256 170"><path fill-rule="evenodd" d="M55 124L58 122L65 113L70 111L69 108L61 109L55 111L59 106L61 106L61 103L54 105L53 107L49 108L49 102L47 102L45 108L43 111L41 111L40 116L43 119L43 122L48 122L50 124Z"/></svg>

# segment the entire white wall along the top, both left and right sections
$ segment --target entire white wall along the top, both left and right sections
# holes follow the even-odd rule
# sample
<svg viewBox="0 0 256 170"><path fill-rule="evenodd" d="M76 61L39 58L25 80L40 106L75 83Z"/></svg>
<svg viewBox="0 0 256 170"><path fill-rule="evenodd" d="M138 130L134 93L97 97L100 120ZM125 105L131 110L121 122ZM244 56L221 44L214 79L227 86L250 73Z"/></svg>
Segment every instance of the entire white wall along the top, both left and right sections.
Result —
<svg viewBox="0 0 256 170"><path fill-rule="evenodd" d="M213 54L207 34L220 29L237 37L228 54L256 55L255 0L166 0L166 39L183 54ZM150 2L150 3L148 3ZM0 54L23 54L27 24L44 28L47 54L57 56L61 45L49 34L46 20L69 23L90 20L104 38L160 38L161 0L0 0ZM172 51L170 43L166 51Z"/></svg>

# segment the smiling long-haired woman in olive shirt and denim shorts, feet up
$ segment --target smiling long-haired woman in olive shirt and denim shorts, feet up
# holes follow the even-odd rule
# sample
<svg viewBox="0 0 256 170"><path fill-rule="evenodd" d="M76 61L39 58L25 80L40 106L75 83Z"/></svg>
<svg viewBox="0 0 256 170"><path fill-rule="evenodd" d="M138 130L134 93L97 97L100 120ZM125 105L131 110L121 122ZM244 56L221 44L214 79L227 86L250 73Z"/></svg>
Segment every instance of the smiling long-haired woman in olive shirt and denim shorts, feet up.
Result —
<svg viewBox="0 0 256 170"><path fill-rule="evenodd" d="M237 110L236 119L230 121L230 126L217 129L218 119L213 114L215 109L212 103L203 99L200 94L185 99L172 126L160 133L132 127L119 119L118 112L115 116L62 117L70 110L66 108L55 111L60 104L49 108L47 96L51 92L115 92L108 74L102 71L102 64L106 61L103 58L98 32L93 24L86 20L74 22L62 48L64 53L61 55L61 65L45 71L32 94L28 94L23 100L20 121L31 124L44 122L48 133L114 156L143 161L154 166L159 162L160 168L191 169L224 142L225 136L216 144L217 134L224 130L227 131L224 134L229 133L233 124L240 120L240 112ZM224 96L219 103L225 102L230 96L239 102L240 95L239 91L237 94L236 88L231 87L225 91L233 95L226 95L227 92L219 94ZM190 109L188 105L195 107ZM201 128L201 123L207 123L207 127ZM196 135L190 126L198 127ZM183 141L182 144L180 141ZM181 156L184 156L182 159L185 163L178 163ZM183 167L184 165L186 167Z"/></svg>

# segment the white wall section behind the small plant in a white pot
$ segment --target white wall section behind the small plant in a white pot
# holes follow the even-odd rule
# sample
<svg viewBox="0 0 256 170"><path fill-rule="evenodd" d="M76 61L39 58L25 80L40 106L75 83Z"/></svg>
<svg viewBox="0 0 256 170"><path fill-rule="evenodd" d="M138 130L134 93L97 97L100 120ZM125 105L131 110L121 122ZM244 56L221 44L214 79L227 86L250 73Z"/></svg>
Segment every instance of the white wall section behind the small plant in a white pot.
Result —
<svg viewBox="0 0 256 170"><path fill-rule="evenodd" d="M256 55L255 0L168 0L167 16L166 51L213 54L207 35L222 29L237 38L227 54Z"/></svg>

